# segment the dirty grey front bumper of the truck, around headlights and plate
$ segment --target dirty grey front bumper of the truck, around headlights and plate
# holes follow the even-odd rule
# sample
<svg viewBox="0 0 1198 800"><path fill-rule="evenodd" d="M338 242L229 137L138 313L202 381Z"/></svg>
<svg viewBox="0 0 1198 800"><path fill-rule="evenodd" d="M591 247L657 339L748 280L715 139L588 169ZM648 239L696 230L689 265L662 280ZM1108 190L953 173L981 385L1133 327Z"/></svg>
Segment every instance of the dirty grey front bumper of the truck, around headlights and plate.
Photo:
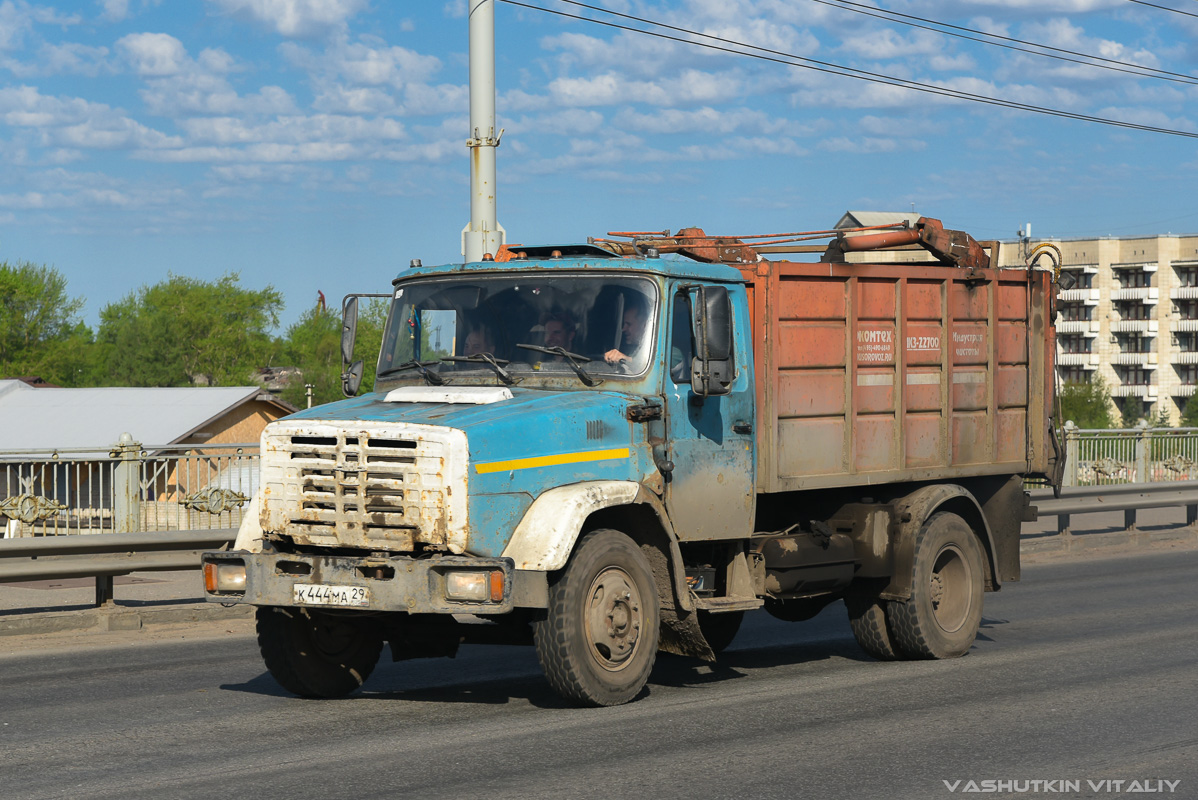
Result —
<svg viewBox="0 0 1198 800"><path fill-rule="evenodd" d="M249 553L238 551L206 552L202 563L237 563L246 565L244 592L205 589L212 602L244 602L255 606L313 606L320 608L352 608L355 611L399 611L412 614L506 614L515 602L528 595L527 583L533 575L518 570L510 558L470 558L435 556L350 557L302 556L295 553ZM502 598L485 600L449 599L446 593L447 575L455 571L503 574ZM544 574L540 574L544 583ZM296 587L358 587L365 596L355 595L349 604L316 604L300 599L305 594ZM534 594L540 594L536 592ZM539 599L539 598L538 598ZM540 604L532 604L540 605Z"/></svg>

